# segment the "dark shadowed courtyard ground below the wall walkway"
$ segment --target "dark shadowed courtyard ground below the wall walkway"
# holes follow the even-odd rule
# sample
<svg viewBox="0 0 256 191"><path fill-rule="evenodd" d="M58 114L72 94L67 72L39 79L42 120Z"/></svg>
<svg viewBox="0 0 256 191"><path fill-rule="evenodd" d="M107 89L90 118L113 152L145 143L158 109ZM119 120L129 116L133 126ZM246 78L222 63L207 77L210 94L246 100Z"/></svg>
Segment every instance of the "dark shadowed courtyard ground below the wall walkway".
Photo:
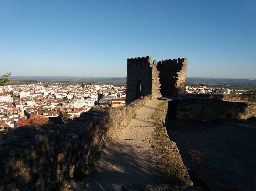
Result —
<svg viewBox="0 0 256 191"><path fill-rule="evenodd" d="M188 171L199 174L213 190L256 189L254 118L214 123L170 120L167 130ZM206 149L205 161L193 161L188 147Z"/></svg>

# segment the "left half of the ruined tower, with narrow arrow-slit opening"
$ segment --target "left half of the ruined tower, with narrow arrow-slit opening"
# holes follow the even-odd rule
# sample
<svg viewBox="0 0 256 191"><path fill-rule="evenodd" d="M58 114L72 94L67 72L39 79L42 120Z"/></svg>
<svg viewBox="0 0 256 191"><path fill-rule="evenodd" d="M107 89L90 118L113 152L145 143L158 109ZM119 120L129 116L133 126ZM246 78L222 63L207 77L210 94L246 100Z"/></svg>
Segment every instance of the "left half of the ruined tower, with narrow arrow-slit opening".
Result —
<svg viewBox="0 0 256 191"><path fill-rule="evenodd" d="M149 94L152 99L161 97L157 62L151 57L127 59L127 96L129 104L141 96Z"/></svg>

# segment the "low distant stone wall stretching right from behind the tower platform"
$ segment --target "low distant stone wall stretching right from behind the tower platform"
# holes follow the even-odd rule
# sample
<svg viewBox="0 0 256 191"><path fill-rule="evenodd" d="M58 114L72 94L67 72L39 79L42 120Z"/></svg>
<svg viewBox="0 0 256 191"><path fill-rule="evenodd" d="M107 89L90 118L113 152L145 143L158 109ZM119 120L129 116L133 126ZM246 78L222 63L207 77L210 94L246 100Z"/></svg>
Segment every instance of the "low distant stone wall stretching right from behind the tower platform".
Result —
<svg viewBox="0 0 256 191"><path fill-rule="evenodd" d="M250 94L186 94L186 96L196 96L202 98L211 98L211 99L219 99L225 101L248 101L248 102L256 102L256 95Z"/></svg>

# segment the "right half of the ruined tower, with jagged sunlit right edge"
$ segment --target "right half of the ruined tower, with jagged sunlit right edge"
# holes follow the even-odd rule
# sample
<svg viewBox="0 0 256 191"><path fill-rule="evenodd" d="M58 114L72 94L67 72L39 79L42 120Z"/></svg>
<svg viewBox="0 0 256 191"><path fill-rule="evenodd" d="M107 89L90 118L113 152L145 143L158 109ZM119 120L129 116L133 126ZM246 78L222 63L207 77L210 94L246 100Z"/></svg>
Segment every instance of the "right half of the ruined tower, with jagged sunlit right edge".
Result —
<svg viewBox="0 0 256 191"><path fill-rule="evenodd" d="M187 58L162 60L157 64L162 96L184 96Z"/></svg>

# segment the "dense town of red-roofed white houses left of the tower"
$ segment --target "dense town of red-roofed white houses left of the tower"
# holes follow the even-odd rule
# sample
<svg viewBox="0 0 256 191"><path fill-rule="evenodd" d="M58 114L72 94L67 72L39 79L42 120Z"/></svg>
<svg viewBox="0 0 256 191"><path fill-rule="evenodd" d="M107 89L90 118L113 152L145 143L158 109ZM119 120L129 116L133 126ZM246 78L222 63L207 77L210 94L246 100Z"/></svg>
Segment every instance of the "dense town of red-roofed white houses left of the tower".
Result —
<svg viewBox="0 0 256 191"><path fill-rule="evenodd" d="M102 99L101 99L102 98ZM120 107L125 105L125 87L62 83L34 83L0 87L0 131L24 125L63 122L80 117L97 103ZM102 100L107 100L102 103Z"/></svg>

